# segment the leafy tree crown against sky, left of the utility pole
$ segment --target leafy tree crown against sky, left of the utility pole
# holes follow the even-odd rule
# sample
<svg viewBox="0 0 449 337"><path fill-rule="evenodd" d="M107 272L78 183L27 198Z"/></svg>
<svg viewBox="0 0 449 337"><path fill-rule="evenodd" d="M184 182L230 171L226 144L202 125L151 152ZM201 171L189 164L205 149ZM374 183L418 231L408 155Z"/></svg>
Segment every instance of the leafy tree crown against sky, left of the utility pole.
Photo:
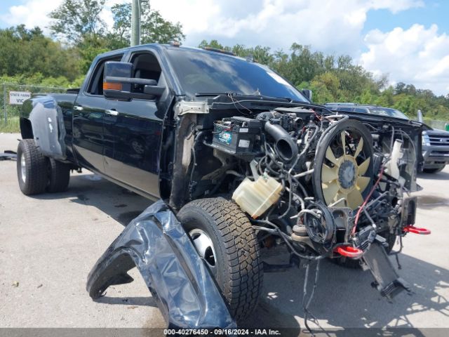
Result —
<svg viewBox="0 0 449 337"><path fill-rule="evenodd" d="M102 36L106 29L100 18L104 6L105 0L64 0L49 14L53 36L75 45L86 35Z"/></svg>

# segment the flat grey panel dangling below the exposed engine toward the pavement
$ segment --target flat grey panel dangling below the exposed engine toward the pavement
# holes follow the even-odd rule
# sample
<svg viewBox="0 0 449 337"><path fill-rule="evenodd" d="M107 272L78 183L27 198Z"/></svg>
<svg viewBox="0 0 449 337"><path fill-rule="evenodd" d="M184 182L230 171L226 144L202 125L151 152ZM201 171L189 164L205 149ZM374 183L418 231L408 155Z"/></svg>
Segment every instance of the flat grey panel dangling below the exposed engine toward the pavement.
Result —
<svg viewBox="0 0 449 337"><path fill-rule="evenodd" d="M382 296L391 300L403 290L409 294L413 293L408 283L399 277L380 243L375 241L371 244L370 249L363 255L363 261L375 279L373 287L380 291Z"/></svg>

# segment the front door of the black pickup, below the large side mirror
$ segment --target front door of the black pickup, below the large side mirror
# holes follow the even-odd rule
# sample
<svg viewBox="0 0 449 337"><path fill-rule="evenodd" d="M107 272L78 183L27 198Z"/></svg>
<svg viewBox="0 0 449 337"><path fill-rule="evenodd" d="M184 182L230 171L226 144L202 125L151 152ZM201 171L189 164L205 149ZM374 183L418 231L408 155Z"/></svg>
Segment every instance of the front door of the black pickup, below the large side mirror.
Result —
<svg viewBox="0 0 449 337"><path fill-rule="evenodd" d="M153 53L135 51L128 62L133 63L134 77L154 79L159 86L166 86ZM131 90L143 92L139 85L133 85ZM160 197L159 161L166 100L109 100L105 114L105 135L112 140L112 147L108 142L105 149L105 173L153 197Z"/></svg>

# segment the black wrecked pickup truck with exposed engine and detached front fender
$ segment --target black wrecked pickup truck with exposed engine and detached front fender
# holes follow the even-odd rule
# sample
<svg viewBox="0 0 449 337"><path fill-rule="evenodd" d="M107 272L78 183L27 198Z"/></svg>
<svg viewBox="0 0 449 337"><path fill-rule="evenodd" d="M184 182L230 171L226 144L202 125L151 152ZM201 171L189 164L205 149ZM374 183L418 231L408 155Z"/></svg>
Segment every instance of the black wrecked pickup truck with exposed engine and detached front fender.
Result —
<svg viewBox="0 0 449 337"><path fill-rule="evenodd" d="M126 272L138 265L173 326L230 324L206 317L211 308L246 317L264 267L276 269L261 251L277 245L292 263L363 265L394 296L408 286L387 253L408 232L428 233L414 226L410 196L422 124L330 112L309 94L222 51L149 44L105 53L79 90L23 105L20 189L60 192L70 170L85 168L161 199L100 258L88 291L98 298L132 281ZM214 284L225 307L210 303Z"/></svg>

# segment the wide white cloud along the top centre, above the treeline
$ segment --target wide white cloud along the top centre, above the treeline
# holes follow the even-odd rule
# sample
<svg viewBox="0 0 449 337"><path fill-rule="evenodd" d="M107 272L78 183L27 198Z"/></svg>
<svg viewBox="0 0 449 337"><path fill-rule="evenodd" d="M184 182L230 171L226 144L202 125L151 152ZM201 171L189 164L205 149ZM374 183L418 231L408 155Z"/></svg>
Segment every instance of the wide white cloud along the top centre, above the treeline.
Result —
<svg viewBox="0 0 449 337"><path fill-rule="evenodd" d="M368 11L396 13L424 6L420 0L152 0L151 4L164 18L182 23L187 45L217 39L288 49L297 42L352 55L363 42Z"/></svg>

